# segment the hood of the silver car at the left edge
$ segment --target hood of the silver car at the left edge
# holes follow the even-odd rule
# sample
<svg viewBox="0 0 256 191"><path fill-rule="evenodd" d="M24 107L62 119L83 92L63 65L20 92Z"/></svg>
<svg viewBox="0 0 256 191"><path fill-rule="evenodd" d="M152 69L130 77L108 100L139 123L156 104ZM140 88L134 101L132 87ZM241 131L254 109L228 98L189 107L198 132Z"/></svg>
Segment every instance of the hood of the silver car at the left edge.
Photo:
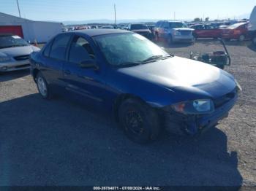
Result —
<svg viewBox="0 0 256 191"><path fill-rule="evenodd" d="M19 55L30 55L31 52L39 51L38 47L26 46L26 47L9 47L0 49L1 53L8 55L10 57L19 56Z"/></svg>

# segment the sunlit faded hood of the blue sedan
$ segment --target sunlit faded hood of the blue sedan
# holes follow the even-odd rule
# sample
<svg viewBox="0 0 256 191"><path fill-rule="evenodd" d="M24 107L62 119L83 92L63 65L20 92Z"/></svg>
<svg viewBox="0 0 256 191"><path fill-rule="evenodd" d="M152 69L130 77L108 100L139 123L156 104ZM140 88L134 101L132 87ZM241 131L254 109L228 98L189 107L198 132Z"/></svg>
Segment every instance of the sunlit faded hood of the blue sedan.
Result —
<svg viewBox="0 0 256 191"><path fill-rule="evenodd" d="M186 90L216 98L236 88L231 74L187 58L173 57L154 63L118 69L118 72L167 87L174 92Z"/></svg>

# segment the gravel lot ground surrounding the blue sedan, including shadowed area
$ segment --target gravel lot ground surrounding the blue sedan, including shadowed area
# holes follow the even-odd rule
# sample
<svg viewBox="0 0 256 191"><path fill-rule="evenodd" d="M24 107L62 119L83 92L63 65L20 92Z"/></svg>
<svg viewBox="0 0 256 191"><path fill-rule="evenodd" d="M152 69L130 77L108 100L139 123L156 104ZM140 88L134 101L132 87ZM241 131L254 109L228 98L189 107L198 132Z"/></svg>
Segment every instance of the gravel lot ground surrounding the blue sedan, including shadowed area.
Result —
<svg viewBox="0 0 256 191"><path fill-rule="evenodd" d="M164 46L164 44L162 44ZM164 133L146 146L111 118L67 98L44 101L29 71L0 76L0 185L256 186L256 52L229 42L227 71L244 88L217 128L192 140ZM220 49L176 44L169 52Z"/></svg>

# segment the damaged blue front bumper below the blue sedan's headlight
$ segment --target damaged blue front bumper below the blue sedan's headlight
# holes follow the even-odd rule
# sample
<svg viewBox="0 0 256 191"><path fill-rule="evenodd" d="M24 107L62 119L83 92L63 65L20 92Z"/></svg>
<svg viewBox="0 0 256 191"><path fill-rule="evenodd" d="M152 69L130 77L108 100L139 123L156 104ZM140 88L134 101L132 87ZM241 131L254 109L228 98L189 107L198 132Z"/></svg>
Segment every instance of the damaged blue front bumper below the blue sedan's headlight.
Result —
<svg viewBox="0 0 256 191"><path fill-rule="evenodd" d="M176 112L165 113L165 128L172 133L199 135L218 124L219 120L228 116L230 109L236 104L238 94L227 104L206 115L184 115Z"/></svg>

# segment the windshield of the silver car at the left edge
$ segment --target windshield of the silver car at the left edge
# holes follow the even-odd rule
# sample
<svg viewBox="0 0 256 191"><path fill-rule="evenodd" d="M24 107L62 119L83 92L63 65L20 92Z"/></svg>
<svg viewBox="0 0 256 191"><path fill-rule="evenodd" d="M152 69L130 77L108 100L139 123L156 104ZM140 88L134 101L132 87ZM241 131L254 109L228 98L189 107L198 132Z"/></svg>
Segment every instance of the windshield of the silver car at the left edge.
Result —
<svg viewBox="0 0 256 191"><path fill-rule="evenodd" d="M20 36L0 36L0 48L25 46L29 46L29 44Z"/></svg>

